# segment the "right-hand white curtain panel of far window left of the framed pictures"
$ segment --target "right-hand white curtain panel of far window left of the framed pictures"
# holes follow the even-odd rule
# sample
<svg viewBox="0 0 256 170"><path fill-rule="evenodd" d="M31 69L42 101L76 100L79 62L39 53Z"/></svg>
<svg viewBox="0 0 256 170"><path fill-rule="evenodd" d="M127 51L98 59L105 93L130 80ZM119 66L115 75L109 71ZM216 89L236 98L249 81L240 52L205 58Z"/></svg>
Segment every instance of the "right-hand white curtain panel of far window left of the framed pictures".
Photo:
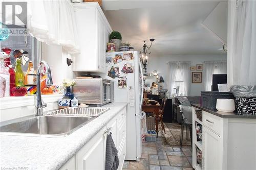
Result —
<svg viewBox="0 0 256 170"><path fill-rule="evenodd" d="M189 95L190 92L190 62L180 62L181 77L184 81L184 95Z"/></svg>

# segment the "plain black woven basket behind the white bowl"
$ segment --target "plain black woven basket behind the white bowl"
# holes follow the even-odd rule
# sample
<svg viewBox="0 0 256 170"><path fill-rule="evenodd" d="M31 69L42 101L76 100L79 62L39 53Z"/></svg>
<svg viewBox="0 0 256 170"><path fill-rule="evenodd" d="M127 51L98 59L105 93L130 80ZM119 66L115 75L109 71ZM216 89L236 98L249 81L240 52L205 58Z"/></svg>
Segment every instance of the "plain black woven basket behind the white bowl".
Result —
<svg viewBox="0 0 256 170"><path fill-rule="evenodd" d="M217 99L234 99L234 95L230 92L218 92L218 91L201 91L202 106L216 110Z"/></svg>

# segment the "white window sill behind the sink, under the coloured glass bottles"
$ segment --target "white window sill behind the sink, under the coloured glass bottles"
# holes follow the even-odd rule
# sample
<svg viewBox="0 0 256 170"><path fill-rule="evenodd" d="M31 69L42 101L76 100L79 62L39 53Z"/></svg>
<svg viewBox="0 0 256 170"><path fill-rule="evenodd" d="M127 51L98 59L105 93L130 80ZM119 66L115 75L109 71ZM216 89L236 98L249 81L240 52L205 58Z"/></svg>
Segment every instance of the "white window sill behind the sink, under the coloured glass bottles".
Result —
<svg viewBox="0 0 256 170"><path fill-rule="evenodd" d="M45 103L57 102L58 99L62 98L62 96L63 94L42 95L42 100L44 100ZM34 104L35 95L20 97L11 96L6 98L0 98L0 110L15 107L32 106Z"/></svg>

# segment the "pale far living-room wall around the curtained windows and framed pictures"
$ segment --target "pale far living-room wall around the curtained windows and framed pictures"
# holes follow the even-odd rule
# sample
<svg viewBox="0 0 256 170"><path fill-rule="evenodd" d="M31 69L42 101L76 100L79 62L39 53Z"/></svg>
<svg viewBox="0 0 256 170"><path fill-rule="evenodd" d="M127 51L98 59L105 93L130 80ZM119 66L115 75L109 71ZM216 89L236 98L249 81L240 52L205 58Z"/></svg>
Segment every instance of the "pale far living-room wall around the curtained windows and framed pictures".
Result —
<svg viewBox="0 0 256 170"><path fill-rule="evenodd" d="M162 76L164 83L162 83L163 89L168 89L168 61L190 61L191 66L196 64L202 64L204 61L220 61L227 60L226 54L223 55L173 55L166 57L155 57L150 56L150 63L147 66L147 73L157 70L159 77ZM191 71L192 72L192 71ZM203 91L203 73L202 83L190 83L190 94L191 96L200 95Z"/></svg>

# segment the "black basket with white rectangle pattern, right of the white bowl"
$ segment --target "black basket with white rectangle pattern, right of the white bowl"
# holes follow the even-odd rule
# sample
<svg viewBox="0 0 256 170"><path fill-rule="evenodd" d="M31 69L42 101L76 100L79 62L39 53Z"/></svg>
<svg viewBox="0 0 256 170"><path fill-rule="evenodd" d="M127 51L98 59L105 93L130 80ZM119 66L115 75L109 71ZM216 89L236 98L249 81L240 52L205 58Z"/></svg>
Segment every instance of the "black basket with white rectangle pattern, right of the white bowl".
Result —
<svg viewBox="0 0 256 170"><path fill-rule="evenodd" d="M256 116L256 97L235 96L234 103L236 105L237 114Z"/></svg>

